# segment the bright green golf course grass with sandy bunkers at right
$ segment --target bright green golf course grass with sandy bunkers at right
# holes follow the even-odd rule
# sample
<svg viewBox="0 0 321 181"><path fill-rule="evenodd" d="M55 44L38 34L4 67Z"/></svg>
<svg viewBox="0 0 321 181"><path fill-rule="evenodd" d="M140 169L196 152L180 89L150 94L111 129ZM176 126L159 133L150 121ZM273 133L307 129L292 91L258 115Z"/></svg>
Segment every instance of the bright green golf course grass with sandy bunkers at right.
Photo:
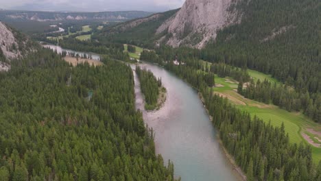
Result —
<svg viewBox="0 0 321 181"><path fill-rule="evenodd" d="M248 70L248 73L254 80L269 80L276 84L282 84L274 79L271 75L265 75L258 71ZM285 125L285 132L289 134L289 141L292 143L304 143L311 145L302 134L307 134L313 145L321 143L321 125L311 121L305 117L302 112L288 112L274 106L272 104L263 104L258 101L246 99L237 93L238 82L231 77L217 77L215 76L214 93L222 97L227 97L228 100L235 104L240 110L249 112L252 117L257 116L266 123L271 123L274 126ZM313 128L319 134L313 134L307 131L307 128ZM313 162L318 163L321 160L321 147L311 145Z"/></svg>

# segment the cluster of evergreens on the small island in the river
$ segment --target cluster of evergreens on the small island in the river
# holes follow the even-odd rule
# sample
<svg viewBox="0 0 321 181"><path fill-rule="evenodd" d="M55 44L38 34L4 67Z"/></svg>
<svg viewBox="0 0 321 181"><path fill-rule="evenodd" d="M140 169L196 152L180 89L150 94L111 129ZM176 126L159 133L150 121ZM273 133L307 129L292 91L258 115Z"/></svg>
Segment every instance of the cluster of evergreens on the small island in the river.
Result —
<svg viewBox="0 0 321 181"><path fill-rule="evenodd" d="M141 69L136 66L136 74L139 77L141 83L141 92L145 97L145 109L154 110L158 106L158 97L160 95L160 88L162 88L162 80L156 79L152 71L147 69Z"/></svg>

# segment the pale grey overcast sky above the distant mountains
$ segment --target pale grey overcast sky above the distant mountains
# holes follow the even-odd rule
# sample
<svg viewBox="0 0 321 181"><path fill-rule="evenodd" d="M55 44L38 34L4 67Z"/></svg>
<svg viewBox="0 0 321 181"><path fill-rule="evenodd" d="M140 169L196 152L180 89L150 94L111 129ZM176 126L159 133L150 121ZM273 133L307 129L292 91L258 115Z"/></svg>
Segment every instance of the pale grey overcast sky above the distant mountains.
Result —
<svg viewBox="0 0 321 181"><path fill-rule="evenodd" d="M185 0L0 0L0 8L43 11L123 11L161 12L182 7Z"/></svg>

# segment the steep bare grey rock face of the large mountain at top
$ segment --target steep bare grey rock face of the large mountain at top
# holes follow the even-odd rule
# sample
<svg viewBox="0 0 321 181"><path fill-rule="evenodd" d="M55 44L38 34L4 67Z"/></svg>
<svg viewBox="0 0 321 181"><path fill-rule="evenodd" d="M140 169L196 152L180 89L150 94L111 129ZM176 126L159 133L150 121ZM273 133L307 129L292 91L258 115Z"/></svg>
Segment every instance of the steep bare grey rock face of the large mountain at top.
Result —
<svg viewBox="0 0 321 181"><path fill-rule="evenodd" d="M161 25L156 34L167 29L171 34L167 45L189 45L202 48L217 31L234 23L240 23L241 13L235 5L240 0L187 0L180 11Z"/></svg>

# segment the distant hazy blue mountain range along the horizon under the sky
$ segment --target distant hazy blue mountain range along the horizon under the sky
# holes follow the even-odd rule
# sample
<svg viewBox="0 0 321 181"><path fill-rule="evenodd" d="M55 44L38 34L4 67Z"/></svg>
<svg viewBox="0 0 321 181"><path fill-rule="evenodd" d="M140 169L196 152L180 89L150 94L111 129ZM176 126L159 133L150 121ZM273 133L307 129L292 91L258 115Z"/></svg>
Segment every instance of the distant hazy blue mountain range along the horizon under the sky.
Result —
<svg viewBox="0 0 321 181"><path fill-rule="evenodd" d="M123 11L123 12L40 12L40 11L14 11L0 10L0 19L3 21L128 21L144 16L151 12Z"/></svg>

